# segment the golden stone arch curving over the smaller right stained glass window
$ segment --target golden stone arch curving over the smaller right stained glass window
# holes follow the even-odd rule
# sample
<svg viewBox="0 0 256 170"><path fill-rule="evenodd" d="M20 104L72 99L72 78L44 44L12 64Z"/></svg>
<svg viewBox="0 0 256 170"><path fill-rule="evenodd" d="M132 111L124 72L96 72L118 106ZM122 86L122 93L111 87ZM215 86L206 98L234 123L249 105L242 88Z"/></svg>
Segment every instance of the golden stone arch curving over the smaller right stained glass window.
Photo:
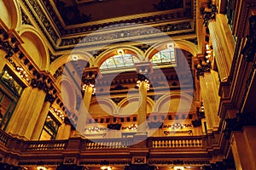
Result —
<svg viewBox="0 0 256 170"><path fill-rule="evenodd" d="M180 48L183 50L188 51L193 56L196 56L198 54L197 47L194 43L186 41L186 40L176 40L172 41L175 43L175 48ZM166 44L170 42L160 42L157 44L154 44L154 46L148 48L148 50L145 52L145 59L150 60L154 54L159 52L160 50L166 49Z"/></svg>

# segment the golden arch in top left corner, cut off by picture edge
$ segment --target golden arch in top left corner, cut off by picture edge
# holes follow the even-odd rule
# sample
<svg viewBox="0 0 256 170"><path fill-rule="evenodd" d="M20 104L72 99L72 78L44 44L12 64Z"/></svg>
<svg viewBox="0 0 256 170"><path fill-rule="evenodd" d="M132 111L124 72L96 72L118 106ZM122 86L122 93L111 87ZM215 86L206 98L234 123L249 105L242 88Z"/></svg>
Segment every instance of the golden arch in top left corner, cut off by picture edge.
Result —
<svg viewBox="0 0 256 170"><path fill-rule="evenodd" d="M15 0L0 1L0 16L3 23L9 29L15 29L20 26L21 14L19 4Z"/></svg>

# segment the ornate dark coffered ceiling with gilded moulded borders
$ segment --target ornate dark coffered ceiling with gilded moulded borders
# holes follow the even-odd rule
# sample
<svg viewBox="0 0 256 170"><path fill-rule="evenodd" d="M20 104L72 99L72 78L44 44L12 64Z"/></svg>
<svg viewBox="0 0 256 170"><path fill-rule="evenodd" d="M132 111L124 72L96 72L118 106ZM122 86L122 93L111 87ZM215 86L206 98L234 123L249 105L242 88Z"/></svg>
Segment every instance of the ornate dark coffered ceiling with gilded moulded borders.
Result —
<svg viewBox="0 0 256 170"><path fill-rule="evenodd" d="M160 32L196 43L195 0L21 0L23 23L40 28L51 61L78 43L94 51L103 44L137 43ZM147 26L156 28L150 30ZM84 38L86 37L86 38Z"/></svg>

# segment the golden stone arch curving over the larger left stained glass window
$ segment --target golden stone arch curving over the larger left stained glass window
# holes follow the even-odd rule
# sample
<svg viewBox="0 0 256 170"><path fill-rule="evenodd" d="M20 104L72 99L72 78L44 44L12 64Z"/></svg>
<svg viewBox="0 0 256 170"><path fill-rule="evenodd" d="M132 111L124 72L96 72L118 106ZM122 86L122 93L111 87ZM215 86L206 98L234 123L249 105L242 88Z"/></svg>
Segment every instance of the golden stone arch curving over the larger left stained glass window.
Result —
<svg viewBox="0 0 256 170"><path fill-rule="evenodd" d="M119 48L123 49L125 54L134 54L135 56L137 56L137 58L139 60L141 60L141 61L144 60L144 54L141 49L133 47L133 46L123 45L123 46L116 46L116 47L113 47L111 49L104 51L102 54L97 56L94 65L100 67L106 59L117 54L117 50Z"/></svg>

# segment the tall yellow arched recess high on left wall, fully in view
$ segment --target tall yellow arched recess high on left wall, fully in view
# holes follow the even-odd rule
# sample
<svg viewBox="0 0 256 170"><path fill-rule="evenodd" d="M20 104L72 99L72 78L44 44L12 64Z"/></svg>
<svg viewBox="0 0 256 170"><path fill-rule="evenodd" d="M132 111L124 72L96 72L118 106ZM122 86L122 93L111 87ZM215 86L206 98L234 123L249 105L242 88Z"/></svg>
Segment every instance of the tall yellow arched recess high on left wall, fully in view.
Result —
<svg viewBox="0 0 256 170"><path fill-rule="evenodd" d="M20 30L20 37L24 42L21 46L26 50L32 61L38 65L41 71L47 70L49 52L38 31L32 26L23 26Z"/></svg>

